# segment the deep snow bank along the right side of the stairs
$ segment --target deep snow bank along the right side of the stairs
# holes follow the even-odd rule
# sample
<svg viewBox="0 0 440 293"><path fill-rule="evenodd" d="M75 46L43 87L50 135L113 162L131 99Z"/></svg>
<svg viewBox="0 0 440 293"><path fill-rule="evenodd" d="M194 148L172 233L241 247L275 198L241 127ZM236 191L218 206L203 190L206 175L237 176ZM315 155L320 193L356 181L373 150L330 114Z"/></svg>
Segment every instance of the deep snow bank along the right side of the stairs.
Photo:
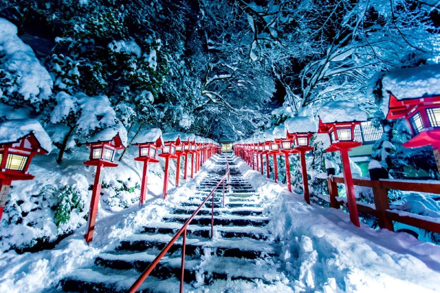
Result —
<svg viewBox="0 0 440 293"><path fill-rule="evenodd" d="M341 209L310 206L301 194L238 161L269 213L280 261L294 292L433 292L440 246L406 233L355 227ZM433 215L433 214L431 214Z"/></svg>

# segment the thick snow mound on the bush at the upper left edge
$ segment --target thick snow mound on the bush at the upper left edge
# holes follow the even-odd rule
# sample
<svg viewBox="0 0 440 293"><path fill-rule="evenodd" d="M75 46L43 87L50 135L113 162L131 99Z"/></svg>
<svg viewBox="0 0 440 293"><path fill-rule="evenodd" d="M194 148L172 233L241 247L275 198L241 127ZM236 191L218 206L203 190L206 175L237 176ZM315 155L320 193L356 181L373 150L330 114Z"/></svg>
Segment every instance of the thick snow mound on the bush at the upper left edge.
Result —
<svg viewBox="0 0 440 293"><path fill-rule="evenodd" d="M4 18L0 18L0 72L6 78L17 80L8 88L16 91L23 99L31 103L47 99L52 93L52 79L48 71L40 64L29 45L17 36L17 27ZM0 92L0 99L3 93Z"/></svg>

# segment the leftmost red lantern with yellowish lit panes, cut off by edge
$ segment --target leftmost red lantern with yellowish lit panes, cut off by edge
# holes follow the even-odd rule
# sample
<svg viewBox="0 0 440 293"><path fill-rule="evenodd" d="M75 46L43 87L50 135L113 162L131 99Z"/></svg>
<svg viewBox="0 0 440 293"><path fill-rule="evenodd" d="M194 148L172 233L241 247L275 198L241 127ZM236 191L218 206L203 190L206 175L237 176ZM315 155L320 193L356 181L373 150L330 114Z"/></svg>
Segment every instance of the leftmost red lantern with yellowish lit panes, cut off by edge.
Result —
<svg viewBox="0 0 440 293"><path fill-rule="evenodd" d="M4 122L6 123L8 121ZM48 154L48 151L40 146L33 132L20 136L14 137L13 141L0 142L0 220L11 188L11 181L34 179L35 176L27 172L33 156ZM8 137L12 138L10 135Z"/></svg>

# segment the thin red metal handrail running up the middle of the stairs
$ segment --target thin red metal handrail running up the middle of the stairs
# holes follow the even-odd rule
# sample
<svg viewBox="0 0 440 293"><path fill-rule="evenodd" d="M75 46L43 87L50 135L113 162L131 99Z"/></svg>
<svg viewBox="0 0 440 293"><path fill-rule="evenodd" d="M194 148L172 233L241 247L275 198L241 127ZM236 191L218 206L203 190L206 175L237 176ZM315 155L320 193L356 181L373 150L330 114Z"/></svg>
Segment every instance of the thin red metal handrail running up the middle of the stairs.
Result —
<svg viewBox="0 0 440 293"><path fill-rule="evenodd" d="M220 179L220 181L217 183L217 185L211 190L211 192L208 194L208 196L203 200L203 202L198 206L198 208L192 213L192 215L189 217L189 219L183 224L182 228L180 228L179 231L177 231L176 234L172 237L172 239L168 242L167 245L161 250L158 256L148 265L148 267L142 272L142 274L139 276L139 278L136 280L136 282L133 283L133 285L128 289L128 292L134 293L139 288L139 286L145 281L145 279L150 275L151 271L153 271L154 267L159 263L161 258L165 255L165 253L168 252L168 250L171 248L171 246L176 242L176 240L180 237L180 235L183 233L183 242L182 242L182 265L181 265L181 275L180 275L180 293L183 292L183 272L185 269L185 248L186 248L186 242L187 242L187 227L191 223L191 221L194 219L194 217L197 215L197 213L202 209L202 206L205 205L206 201L208 201L209 197L212 196L212 209L211 209L211 238L213 238L213 227L214 227L214 192L217 189L217 187L220 186L220 183L223 182L223 207L224 207L224 190L225 190L225 179L227 178L227 184L228 184L228 191L231 190L231 184L229 181L229 163L227 161L226 156L226 173L224 176Z"/></svg>

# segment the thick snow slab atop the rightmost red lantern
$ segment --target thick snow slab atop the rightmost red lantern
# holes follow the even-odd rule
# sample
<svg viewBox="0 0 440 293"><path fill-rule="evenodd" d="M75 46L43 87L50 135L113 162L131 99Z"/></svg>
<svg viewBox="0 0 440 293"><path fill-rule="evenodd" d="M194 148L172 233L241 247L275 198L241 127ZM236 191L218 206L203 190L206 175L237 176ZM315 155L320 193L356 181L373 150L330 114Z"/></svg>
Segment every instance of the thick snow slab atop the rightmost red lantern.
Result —
<svg viewBox="0 0 440 293"><path fill-rule="evenodd" d="M382 77L382 110L388 113L390 94L397 100L440 95L440 64L391 70Z"/></svg>

